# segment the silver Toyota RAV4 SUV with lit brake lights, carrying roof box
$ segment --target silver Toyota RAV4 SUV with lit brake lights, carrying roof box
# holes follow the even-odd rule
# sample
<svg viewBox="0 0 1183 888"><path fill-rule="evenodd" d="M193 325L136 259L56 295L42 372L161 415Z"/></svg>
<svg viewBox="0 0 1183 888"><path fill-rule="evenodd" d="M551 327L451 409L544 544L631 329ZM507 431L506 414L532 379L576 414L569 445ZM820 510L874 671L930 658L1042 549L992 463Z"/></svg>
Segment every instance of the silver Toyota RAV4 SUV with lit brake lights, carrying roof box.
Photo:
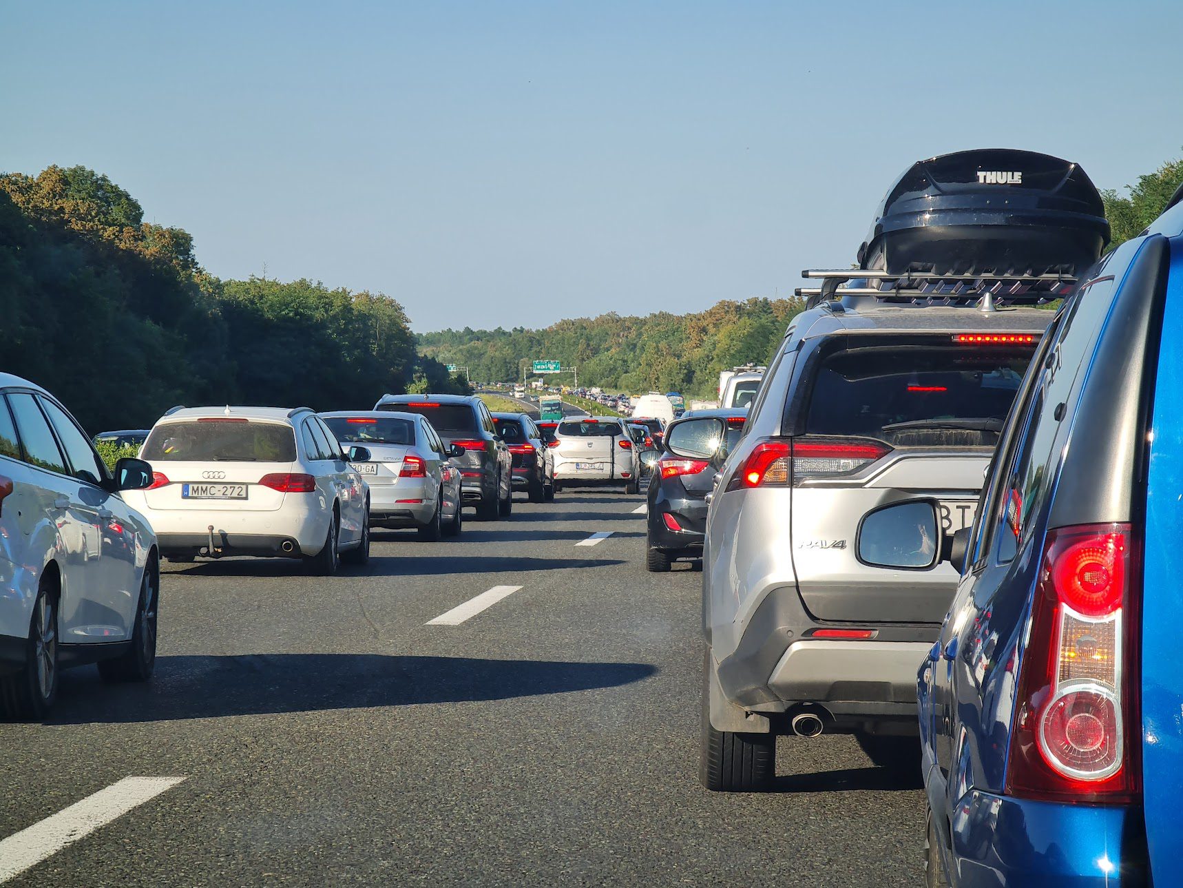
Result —
<svg viewBox="0 0 1183 888"><path fill-rule="evenodd" d="M716 457L703 558L709 789L770 780L777 734L855 733L877 760L914 742L917 664L957 577L935 540L906 570L870 566L900 564L868 548L893 545L877 513L932 497L950 535L970 526L1053 315L848 289L862 295L838 290L794 320L744 437Z"/></svg>

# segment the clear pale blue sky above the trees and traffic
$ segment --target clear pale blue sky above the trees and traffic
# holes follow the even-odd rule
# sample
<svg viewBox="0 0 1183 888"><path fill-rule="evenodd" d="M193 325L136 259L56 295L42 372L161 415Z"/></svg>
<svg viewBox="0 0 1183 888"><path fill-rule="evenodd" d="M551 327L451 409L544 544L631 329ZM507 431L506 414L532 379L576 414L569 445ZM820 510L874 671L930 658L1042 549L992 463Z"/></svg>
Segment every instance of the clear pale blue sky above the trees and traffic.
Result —
<svg viewBox="0 0 1183 888"><path fill-rule="evenodd" d="M0 0L0 170L416 330L784 296L914 160L1183 154L1183 2Z"/></svg>

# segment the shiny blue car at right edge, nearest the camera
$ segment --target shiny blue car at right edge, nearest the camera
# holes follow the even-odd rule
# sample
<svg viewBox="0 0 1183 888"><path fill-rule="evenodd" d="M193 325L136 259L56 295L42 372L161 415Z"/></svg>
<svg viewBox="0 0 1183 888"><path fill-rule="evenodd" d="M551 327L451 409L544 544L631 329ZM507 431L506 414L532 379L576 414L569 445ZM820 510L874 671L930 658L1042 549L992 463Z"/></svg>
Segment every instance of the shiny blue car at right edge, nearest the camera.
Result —
<svg viewBox="0 0 1183 888"><path fill-rule="evenodd" d="M931 504L886 551L931 545ZM1183 188L1056 313L944 549L927 884L1183 884Z"/></svg>

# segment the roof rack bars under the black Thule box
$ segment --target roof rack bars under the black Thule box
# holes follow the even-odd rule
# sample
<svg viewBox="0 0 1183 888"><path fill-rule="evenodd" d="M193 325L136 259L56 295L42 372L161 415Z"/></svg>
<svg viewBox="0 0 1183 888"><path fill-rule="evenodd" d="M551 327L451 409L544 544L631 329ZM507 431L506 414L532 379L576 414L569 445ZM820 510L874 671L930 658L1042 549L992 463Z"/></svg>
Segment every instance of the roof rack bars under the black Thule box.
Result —
<svg viewBox="0 0 1183 888"><path fill-rule="evenodd" d="M821 287L799 287L806 308L845 297L913 305L978 307L983 311L1000 305L1039 305L1061 298L1072 290L1072 275L936 275L927 271L891 274L878 269L806 269L801 277L821 279ZM848 282L866 282L851 287Z"/></svg>

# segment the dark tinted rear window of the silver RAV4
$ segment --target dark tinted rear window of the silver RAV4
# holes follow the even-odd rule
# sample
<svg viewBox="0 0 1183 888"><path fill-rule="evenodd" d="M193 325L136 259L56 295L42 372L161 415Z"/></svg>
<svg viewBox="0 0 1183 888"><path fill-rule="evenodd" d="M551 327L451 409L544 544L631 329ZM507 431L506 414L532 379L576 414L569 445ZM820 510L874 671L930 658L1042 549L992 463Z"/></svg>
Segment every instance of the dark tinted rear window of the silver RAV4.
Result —
<svg viewBox="0 0 1183 888"><path fill-rule="evenodd" d="M994 446L1030 347L873 347L838 352L817 371L809 435L892 446Z"/></svg>

